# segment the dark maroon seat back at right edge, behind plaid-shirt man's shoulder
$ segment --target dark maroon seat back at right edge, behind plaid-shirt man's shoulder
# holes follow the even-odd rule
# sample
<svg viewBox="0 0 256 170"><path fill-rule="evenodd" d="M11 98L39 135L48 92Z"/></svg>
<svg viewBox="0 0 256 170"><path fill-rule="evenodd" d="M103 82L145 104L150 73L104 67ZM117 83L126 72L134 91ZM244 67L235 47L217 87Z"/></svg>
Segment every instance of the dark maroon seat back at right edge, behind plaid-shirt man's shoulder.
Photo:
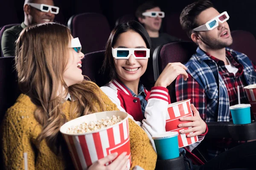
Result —
<svg viewBox="0 0 256 170"><path fill-rule="evenodd" d="M233 44L230 45L230 48L246 54L256 64L256 40L253 34L248 31L235 30L231 32L231 35L233 37Z"/></svg>

